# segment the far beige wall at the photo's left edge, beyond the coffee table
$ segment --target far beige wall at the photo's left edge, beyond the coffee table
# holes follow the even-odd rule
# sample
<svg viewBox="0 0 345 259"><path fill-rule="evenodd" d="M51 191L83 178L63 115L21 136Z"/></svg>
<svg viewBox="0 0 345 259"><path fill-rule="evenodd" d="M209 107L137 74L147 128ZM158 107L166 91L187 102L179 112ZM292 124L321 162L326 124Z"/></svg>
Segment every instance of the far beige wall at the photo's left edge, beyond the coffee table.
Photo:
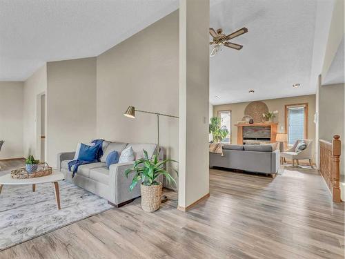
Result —
<svg viewBox="0 0 345 259"><path fill-rule="evenodd" d="M23 82L0 82L0 160L23 157Z"/></svg>

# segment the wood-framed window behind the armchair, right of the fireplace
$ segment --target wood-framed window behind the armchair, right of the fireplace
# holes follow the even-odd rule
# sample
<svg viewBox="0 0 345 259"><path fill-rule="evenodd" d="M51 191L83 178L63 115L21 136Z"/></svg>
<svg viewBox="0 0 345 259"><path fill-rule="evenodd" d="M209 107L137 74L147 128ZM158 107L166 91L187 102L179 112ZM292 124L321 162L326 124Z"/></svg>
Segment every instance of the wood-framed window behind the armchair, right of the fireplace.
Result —
<svg viewBox="0 0 345 259"><path fill-rule="evenodd" d="M288 133L288 145L296 140L307 138L308 104L294 104L285 106L285 128Z"/></svg>

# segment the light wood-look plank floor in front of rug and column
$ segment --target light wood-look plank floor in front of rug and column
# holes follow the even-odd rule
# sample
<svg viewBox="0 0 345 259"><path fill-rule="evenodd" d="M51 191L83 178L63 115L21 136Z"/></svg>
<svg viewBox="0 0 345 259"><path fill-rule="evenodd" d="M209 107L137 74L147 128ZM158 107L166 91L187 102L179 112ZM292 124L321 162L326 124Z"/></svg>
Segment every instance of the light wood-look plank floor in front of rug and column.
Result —
<svg viewBox="0 0 345 259"><path fill-rule="evenodd" d="M210 169L210 198L184 213L140 200L0 252L0 258L344 258L344 203L317 171L275 179Z"/></svg>

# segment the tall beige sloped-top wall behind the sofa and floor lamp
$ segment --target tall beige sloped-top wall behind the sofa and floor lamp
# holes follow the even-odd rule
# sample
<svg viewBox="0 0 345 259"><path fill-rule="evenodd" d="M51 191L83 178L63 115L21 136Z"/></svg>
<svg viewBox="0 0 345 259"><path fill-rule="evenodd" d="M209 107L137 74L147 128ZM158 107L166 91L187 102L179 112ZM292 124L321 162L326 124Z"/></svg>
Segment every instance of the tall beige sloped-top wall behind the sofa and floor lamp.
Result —
<svg viewBox="0 0 345 259"><path fill-rule="evenodd" d="M129 105L178 115L179 13L153 23L97 57L97 137L156 143L155 115L124 117ZM178 160L178 119L160 117L160 141Z"/></svg>

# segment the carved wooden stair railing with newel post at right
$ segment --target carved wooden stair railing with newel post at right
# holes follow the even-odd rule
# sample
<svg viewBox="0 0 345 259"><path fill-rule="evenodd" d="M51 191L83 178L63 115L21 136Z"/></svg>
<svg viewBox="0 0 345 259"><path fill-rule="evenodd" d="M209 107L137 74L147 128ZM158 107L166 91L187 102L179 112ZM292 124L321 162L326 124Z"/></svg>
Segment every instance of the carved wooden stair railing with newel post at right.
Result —
<svg viewBox="0 0 345 259"><path fill-rule="evenodd" d="M333 202L342 202L340 198L340 149L341 141L339 135L333 136L333 142L319 140L320 166L319 171L324 178L328 189L332 193Z"/></svg>

